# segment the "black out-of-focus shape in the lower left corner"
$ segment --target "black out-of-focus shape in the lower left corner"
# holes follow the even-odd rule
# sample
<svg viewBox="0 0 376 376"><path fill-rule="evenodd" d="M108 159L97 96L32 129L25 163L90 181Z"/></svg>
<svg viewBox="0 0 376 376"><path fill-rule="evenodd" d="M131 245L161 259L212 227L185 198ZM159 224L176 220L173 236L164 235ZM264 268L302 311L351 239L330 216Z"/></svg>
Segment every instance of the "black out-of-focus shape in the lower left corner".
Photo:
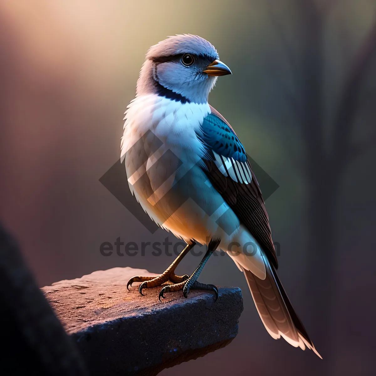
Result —
<svg viewBox="0 0 376 376"><path fill-rule="evenodd" d="M14 238L0 224L0 321L4 374L88 375L77 346L36 285Z"/></svg>

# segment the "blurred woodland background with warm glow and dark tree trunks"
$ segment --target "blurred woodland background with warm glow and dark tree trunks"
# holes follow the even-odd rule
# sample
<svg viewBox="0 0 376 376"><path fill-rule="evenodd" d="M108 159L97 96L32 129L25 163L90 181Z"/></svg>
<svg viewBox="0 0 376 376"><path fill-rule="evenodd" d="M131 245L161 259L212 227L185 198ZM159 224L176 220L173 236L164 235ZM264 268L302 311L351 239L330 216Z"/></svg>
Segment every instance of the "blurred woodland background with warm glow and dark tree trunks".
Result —
<svg viewBox="0 0 376 376"><path fill-rule="evenodd" d="M173 256L100 254L118 237L177 240L151 234L99 178L119 158L147 49L177 33L211 41L233 72L209 100L280 186L266 202L279 276L324 359L273 340L243 274L213 256L200 280L242 289L239 334L161 375L374 374L374 0L2 0L1 221L41 287L117 266L165 270ZM178 272L198 262L188 255Z"/></svg>

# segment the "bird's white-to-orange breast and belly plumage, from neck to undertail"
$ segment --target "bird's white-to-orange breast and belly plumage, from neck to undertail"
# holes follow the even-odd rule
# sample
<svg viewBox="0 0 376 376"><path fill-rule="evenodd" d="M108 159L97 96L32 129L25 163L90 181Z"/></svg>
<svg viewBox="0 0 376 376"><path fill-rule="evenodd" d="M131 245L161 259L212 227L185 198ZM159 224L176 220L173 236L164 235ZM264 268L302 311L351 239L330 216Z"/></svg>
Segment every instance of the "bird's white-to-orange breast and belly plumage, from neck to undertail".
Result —
<svg viewBox="0 0 376 376"><path fill-rule="evenodd" d="M136 97L126 111L121 140L130 191L152 220L185 241L207 244L217 237L226 251L233 243L258 244L206 175L210 145L203 128L210 114L207 103ZM237 265L264 278L259 246L251 256L241 247Z"/></svg>

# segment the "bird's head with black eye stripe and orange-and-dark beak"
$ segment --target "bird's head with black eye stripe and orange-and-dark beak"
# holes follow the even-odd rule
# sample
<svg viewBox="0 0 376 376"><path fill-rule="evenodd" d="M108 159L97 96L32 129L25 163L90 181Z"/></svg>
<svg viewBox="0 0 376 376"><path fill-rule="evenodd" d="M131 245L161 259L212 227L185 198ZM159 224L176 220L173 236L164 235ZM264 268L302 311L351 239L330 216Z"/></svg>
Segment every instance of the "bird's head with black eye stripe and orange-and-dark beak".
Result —
<svg viewBox="0 0 376 376"><path fill-rule="evenodd" d="M217 76L231 74L217 50L190 34L150 47L137 81L137 95L156 93L182 102L206 103Z"/></svg>

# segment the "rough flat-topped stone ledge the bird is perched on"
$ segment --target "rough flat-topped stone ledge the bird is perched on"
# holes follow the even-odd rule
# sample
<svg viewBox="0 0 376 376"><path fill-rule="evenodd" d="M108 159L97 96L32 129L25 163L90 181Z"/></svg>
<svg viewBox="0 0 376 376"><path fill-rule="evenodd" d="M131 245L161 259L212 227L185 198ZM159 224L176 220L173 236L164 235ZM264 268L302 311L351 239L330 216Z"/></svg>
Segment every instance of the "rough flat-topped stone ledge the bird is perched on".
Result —
<svg viewBox="0 0 376 376"><path fill-rule="evenodd" d="M191 291L166 294L160 288L146 296L127 281L146 270L113 268L56 282L42 288L65 330L76 342L89 373L94 375L156 375L226 346L238 333L243 311L239 288L214 294Z"/></svg>

